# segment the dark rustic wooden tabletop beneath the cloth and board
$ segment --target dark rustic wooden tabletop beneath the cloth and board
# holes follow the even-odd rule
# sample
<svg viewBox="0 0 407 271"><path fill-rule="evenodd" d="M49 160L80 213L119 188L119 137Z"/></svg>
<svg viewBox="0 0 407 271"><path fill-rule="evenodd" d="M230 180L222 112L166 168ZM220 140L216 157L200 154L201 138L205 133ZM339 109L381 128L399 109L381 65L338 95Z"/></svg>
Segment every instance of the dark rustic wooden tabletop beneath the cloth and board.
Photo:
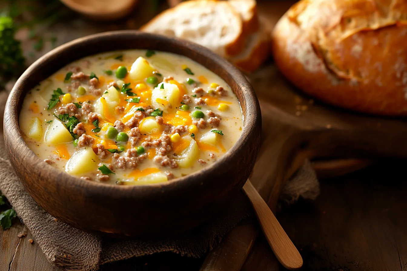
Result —
<svg viewBox="0 0 407 271"><path fill-rule="evenodd" d="M270 24L274 24L292 3L258 2L260 13L267 15ZM69 23L59 22L50 28L39 29L39 32L46 37L57 37L57 43L60 44L105 30L138 28L153 15L153 12L140 13L140 10L136 10L134 16L130 17L137 20L119 21L113 26L74 18ZM24 37L24 31L20 35ZM33 54L33 42L35 40L23 43L29 61L52 46L50 42L44 43L44 49ZM302 254L302 270L407 270L405 162L388 160L350 175L322 180L321 195L315 202L300 201L278 212L280 223ZM18 238L19 232L27 232L27 235ZM35 241L33 244L28 241L31 234L19 221L15 221L9 230L0 229L0 235L0 271L58 270L46 260ZM228 236L225 240L229 242L237 237ZM229 253L232 261L234 251L223 252ZM106 264L101 270L193 271L199 270L204 260L161 253ZM276 271L284 268L279 266L260 234L241 270Z"/></svg>

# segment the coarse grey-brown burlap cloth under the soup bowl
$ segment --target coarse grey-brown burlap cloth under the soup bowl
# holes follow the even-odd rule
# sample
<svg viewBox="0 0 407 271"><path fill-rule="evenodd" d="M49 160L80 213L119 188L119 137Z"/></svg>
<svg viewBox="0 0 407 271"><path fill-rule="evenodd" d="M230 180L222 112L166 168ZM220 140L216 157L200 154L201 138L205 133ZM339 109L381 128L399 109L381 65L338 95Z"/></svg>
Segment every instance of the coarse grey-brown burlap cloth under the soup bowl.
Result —
<svg viewBox="0 0 407 271"><path fill-rule="evenodd" d="M241 219L252 215L247 199L243 193L239 193L230 202L226 211L212 221L171 238L117 240L66 225L42 210L14 174L4 151L2 136L2 117L6 99L7 92L0 92L0 191L31 231L47 259L55 266L65 270L97 270L101 264L163 251L201 257L216 246ZM299 197L315 199L318 194L319 183L315 172L310 163L306 162L284 187L281 199L291 204Z"/></svg>

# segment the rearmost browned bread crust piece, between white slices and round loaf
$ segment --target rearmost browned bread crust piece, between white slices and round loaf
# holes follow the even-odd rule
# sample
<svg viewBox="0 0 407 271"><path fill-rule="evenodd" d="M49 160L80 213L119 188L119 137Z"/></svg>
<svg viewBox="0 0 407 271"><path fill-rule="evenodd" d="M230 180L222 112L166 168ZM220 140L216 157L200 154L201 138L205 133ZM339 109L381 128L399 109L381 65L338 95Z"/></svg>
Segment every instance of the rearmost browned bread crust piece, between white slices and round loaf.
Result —
<svg viewBox="0 0 407 271"><path fill-rule="evenodd" d="M228 60L243 72L254 72L269 56L269 42L270 30L260 20L260 28L247 38L245 50Z"/></svg>

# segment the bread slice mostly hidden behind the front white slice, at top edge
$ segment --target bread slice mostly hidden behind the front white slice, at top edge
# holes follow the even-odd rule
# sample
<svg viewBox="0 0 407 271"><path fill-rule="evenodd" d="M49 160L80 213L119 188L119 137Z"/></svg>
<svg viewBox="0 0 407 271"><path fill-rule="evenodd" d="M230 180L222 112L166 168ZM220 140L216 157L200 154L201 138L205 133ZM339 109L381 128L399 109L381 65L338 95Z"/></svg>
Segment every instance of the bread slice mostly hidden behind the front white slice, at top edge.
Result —
<svg viewBox="0 0 407 271"><path fill-rule="evenodd" d="M229 0L229 4L241 15L243 33L255 33L259 28L256 0Z"/></svg>

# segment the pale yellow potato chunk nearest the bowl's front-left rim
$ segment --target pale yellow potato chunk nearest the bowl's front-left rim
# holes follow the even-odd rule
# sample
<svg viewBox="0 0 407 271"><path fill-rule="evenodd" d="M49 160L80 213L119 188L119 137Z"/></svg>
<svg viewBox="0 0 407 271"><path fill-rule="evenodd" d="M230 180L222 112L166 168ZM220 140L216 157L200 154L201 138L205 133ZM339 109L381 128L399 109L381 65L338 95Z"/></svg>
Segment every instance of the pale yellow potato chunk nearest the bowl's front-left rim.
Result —
<svg viewBox="0 0 407 271"><path fill-rule="evenodd" d="M66 163L65 171L73 175L82 175L95 171L98 167L98 156L92 148L84 147L77 150Z"/></svg>

